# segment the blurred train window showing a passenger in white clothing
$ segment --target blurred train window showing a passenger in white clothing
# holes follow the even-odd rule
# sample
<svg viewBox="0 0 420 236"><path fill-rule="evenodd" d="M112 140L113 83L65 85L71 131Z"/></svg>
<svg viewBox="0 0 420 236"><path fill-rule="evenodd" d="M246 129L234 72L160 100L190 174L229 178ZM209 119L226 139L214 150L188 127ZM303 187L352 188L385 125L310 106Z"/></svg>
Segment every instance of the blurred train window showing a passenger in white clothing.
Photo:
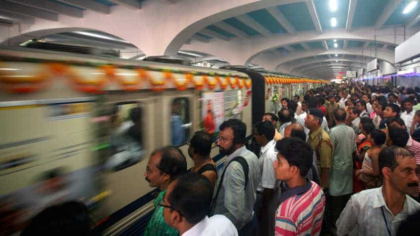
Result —
<svg viewBox="0 0 420 236"><path fill-rule="evenodd" d="M110 111L110 157L105 161L107 170L121 170L139 162L143 149L143 109L138 102L115 103Z"/></svg>

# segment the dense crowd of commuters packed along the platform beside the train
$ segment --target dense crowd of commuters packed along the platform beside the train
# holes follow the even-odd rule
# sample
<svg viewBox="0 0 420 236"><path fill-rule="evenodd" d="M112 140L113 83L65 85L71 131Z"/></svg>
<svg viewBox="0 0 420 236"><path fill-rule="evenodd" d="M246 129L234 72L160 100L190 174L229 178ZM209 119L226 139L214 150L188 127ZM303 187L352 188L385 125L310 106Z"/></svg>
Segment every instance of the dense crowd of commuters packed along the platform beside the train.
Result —
<svg viewBox="0 0 420 236"><path fill-rule="evenodd" d="M160 193L144 235L420 234L419 88L331 84L281 106L254 124L252 145L241 120L220 125L219 170L203 131L188 142L190 169L178 148L154 151L144 176ZM65 203L23 235L87 235L86 222L80 203Z"/></svg>

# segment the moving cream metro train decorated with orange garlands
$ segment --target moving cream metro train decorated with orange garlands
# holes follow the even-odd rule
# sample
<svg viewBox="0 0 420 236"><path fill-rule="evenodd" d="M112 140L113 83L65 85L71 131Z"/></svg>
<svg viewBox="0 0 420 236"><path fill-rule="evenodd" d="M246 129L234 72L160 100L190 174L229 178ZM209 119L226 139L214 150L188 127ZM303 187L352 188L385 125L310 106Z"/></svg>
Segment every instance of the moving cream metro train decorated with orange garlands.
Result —
<svg viewBox="0 0 420 236"><path fill-rule="evenodd" d="M138 235L157 192L143 176L154 149L178 146L191 167L186 143L207 130L208 114L214 137L229 118L242 119L251 136L252 124L276 111L275 94L292 98L326 82L231 69L1 48L1 232L77 199L95 230ZM225 158L216 148L211 157L218 167Z"/></svg>

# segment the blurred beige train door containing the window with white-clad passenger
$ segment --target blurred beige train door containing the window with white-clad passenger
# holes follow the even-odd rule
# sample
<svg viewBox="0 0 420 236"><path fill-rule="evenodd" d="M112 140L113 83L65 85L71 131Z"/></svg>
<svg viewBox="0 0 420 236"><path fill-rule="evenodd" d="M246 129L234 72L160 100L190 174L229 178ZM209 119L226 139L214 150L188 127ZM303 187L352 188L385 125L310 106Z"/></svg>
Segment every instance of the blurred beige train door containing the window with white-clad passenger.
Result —
<svg viewBox="0 0 420 236"><path fill-rule="evenodd" d="M98 109L108 117L99 130L103 142L108 145L106 152L101 154L103 178L105 189L111 193L104 200L102 209L110 215L124 211L141 196L152 198L153 189L143 174L148 157L156 148L156 138L159 138L159 132L154 128L157 98L149 91L110 92L100 101ZM133 214L145 214L152 207L152 204L146 204Z"/></svg>

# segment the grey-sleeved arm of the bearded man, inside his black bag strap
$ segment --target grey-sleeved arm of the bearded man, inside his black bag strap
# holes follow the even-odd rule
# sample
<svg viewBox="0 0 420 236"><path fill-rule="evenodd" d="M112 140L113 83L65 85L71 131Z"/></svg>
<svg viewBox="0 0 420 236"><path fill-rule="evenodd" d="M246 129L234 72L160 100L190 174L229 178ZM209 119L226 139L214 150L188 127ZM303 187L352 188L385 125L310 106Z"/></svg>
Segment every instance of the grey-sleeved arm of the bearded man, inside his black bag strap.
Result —
<svg viewBox="0 0 420 236"><path fill-rule="evenodd" d="M244 226L242 216L245 208L245 174L242 165L238 161L233 161L226 169L223 180L224 215L232 221L237 229Z"/></svg>

